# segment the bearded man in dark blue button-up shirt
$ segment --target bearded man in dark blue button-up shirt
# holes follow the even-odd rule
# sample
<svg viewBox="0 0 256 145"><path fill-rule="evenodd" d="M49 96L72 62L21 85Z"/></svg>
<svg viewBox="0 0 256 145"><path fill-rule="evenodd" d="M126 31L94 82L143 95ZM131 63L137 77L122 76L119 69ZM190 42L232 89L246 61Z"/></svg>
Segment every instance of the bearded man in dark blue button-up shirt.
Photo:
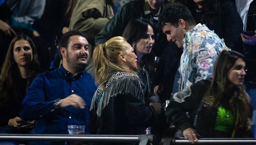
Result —
<svg viewBox="0 0 256 145"><path fill-rule="evenodd" d="M63 34L59 51L62 65L35 77L22 102L20 117L35 120L35 134L68 134L68 125L85 125L88 134L88 109L97 87L85 71L89 58L85 34L77 30Z"/></svg>

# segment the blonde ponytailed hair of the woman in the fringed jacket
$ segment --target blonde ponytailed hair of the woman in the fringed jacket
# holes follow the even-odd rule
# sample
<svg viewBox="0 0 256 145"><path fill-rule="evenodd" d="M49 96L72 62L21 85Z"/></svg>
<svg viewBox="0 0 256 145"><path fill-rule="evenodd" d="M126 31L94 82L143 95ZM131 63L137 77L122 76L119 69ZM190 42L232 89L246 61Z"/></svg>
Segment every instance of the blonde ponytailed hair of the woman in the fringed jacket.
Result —
<svg viewBox="0 0 256 145"><path fill-rule="evenodd" d="M113 70L125 71L117 64L119 54L126 55L127 47L125 42L127 42L125 38L117 36L111 38L105 44L99 44L94 49L95 79L96 83L100 84L103 88L108 73ZM137 75L134 71L129 72Z"/></svg>

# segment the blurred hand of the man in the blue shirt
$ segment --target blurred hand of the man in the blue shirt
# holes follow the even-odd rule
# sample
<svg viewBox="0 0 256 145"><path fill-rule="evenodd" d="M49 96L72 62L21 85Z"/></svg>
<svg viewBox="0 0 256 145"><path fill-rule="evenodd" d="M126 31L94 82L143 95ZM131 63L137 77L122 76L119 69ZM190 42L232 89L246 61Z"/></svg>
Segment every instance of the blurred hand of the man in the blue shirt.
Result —
<svg viewBox="0 0 256 145"><path fill-rule="evenodd" d="M65 99L61 100L60 107L64 108L67 106L74 106L77 109L84 109L85 108L84 99L76 94L72 94Z"/></svg>

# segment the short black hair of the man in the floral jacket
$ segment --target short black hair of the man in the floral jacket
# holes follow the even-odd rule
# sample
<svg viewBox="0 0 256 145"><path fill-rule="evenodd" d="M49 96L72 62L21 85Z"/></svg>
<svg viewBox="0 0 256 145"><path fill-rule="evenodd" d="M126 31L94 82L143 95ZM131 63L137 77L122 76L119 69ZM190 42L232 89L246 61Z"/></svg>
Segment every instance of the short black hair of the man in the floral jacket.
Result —
<svg viewBox="0 0 256 145"><path fill-rule="evenodd" d="M174 27L178 27L179 19L187 21L189 25L196 24L191 12L185 5L181 3L169 3L158 17L158 27L162 29L166 23L171 23Z"/></svg>

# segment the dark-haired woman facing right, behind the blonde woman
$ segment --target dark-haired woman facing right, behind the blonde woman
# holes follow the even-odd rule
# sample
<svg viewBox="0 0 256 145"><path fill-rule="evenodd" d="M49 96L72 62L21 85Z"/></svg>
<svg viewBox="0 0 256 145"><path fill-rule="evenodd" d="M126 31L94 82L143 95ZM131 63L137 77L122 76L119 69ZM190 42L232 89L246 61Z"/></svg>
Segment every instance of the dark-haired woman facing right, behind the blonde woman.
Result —
<svg viewBox="0 0 256 145"><path fill-rule="evenodd" d="M148 104L147 98L154 95L151 85L155 73L153 66L155 55L152 52L152 46L155 42L154 26L147 19L134 19L128 23L122 36L134 48L138 57L136 72L146 86L143 92Z"/></svg>

